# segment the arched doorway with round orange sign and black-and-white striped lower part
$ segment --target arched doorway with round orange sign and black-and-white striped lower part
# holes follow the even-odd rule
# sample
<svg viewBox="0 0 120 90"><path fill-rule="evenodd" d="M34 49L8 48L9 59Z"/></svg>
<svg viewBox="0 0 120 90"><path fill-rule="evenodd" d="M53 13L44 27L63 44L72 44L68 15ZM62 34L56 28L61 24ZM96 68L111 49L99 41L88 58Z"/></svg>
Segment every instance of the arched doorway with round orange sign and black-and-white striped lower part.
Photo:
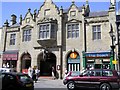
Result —
<svg viewBox="0 0 120 90"><path fill-rule="evenodd" d="M67 55L67 71L80 72L80 55L76 51L71 51Z"/></svg>

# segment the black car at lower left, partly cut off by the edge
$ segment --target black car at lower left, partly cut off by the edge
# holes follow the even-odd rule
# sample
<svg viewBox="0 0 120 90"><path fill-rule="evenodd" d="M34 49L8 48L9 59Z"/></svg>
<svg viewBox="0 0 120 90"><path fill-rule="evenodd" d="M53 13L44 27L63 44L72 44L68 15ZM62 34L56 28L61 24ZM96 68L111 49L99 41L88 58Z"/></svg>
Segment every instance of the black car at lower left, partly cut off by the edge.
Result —
<svg viewBox="0 0 120 90"><path fill-rule="evenodd" d="M2 90L34 90L34 82L27 75L17 72L2 72Z"/></svg>

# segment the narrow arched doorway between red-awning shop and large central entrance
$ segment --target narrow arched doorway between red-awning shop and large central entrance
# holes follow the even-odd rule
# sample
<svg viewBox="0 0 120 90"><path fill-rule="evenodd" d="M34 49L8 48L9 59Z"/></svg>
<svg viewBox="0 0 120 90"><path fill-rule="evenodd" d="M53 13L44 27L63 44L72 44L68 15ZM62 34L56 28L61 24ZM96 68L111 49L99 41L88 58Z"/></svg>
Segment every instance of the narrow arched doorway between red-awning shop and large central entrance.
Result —
<svg viewBox="0 0 120 90"><path fill-rule="evenodd" d="M27 73L29 67L31 67L31 56L29 53L24 53L21 57L21 71Z"/></svg>

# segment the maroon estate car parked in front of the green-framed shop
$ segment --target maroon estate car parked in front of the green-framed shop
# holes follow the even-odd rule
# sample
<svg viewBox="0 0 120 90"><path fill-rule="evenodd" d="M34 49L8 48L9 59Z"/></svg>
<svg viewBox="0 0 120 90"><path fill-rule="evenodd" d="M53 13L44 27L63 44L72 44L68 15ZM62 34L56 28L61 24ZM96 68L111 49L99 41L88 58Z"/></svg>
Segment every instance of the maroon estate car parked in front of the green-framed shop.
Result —
<svg viewBox="0 0 120 90"><path fill-rule="evenodd" d="M69 90L77 87L97 88L99 90L112 90L120 88L120 77L117 71L111 69L86 70L80 75L69 74L64 80Z"/></svg>

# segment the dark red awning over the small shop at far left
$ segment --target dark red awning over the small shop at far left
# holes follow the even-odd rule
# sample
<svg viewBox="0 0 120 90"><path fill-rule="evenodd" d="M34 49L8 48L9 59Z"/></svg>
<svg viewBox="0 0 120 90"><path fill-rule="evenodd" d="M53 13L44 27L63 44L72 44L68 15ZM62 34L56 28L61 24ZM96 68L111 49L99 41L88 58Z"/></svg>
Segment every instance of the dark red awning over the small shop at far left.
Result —
<svg viewBox="0 0 120 90"><path fill-rule="evenodd" d="M3 60L18 60L18 51L3 52Z"/></svg>

